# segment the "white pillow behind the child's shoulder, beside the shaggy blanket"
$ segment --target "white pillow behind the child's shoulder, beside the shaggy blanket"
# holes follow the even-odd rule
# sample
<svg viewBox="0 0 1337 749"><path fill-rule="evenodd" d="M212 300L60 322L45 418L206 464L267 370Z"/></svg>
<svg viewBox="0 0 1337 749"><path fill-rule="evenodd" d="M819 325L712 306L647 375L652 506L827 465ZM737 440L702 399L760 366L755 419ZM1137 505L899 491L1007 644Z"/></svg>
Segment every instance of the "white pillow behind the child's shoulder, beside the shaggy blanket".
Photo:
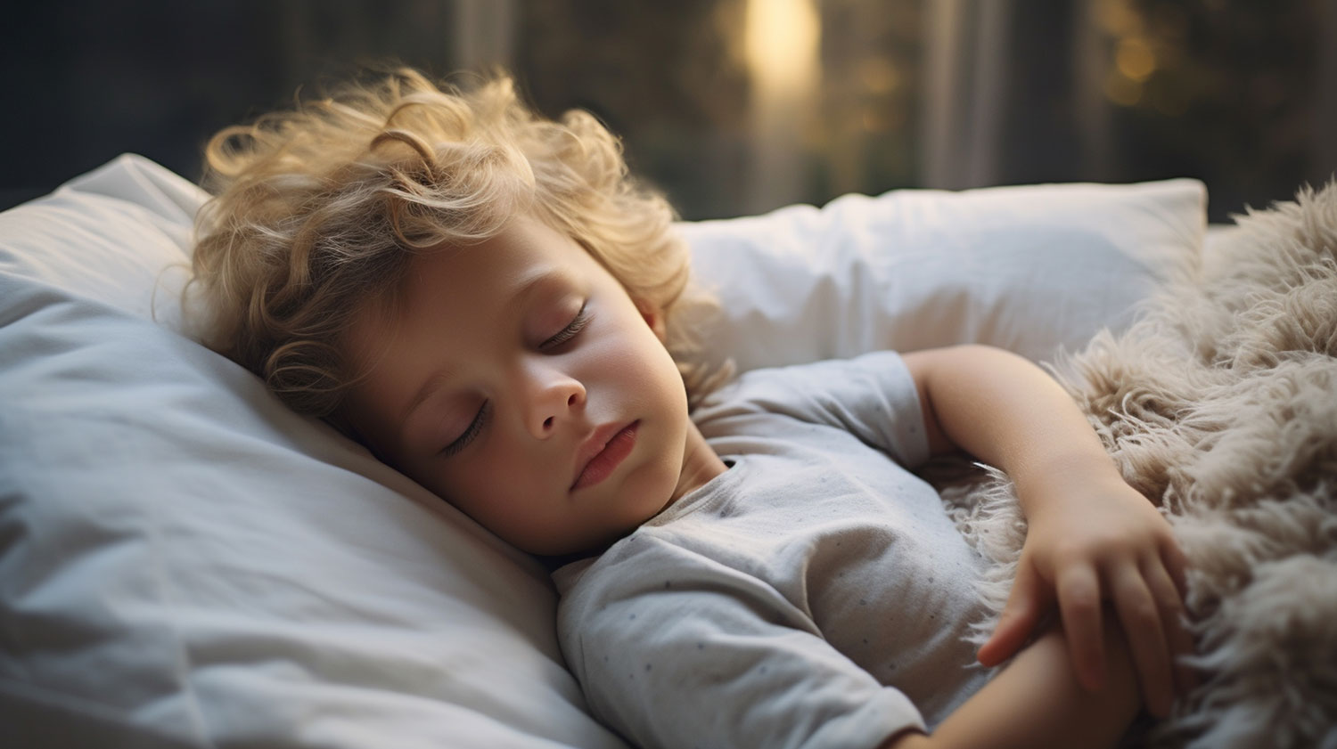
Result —
<svg viewBox="0 0 1337 749"><path fill-rule="evenodd" d="M900 190L681 228L723 307L705 348L741 370L952 343L1044 360L1197 267L1206 190Z"/></svg>

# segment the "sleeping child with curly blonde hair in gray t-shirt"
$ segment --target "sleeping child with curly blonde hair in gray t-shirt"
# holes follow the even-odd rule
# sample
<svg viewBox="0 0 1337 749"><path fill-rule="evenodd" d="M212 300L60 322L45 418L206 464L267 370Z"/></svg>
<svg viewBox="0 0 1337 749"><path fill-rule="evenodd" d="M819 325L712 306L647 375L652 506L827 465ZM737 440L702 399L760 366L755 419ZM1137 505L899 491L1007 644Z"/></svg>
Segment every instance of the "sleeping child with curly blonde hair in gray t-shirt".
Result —
<svg viewBox="0 0 1337 749"><path fill-rule="evenodd" d="M631 742L1108 746L1191 678L1170 527L1056 383L981 346L693 364L674 212L592 116L398 69L206 156L210 344L554 561ZM979 652L983 561L913 473L952 451L1028 522Z"/></svg>

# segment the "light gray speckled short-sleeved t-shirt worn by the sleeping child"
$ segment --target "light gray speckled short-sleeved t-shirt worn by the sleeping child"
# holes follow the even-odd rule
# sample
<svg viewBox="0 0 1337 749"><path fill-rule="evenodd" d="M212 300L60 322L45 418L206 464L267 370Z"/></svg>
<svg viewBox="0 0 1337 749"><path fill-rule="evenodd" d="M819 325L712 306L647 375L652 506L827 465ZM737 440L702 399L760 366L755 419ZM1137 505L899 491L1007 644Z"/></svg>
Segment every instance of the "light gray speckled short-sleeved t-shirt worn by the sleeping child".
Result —
<svg viewBox="0 0 1337 749"><path fill-rule="evenodd" d="M984 685L983 559L905 467L897 354L747 372L693 418L731 467L554 573L596 717L647 748L873 748Z"/></svg>

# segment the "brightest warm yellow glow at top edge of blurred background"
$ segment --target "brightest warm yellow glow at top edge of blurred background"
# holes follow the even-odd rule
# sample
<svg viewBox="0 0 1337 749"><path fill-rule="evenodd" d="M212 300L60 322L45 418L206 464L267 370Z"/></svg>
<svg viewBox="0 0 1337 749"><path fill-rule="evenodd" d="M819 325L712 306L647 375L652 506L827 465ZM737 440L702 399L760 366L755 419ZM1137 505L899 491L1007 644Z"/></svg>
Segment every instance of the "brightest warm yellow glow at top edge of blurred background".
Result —
<svg viewBox="0 0 1337 749"><path fill-rule="evenodd" d="M817 80L820 31L812 0L747 0L743 44L757 85L810 88Z"/></svg>

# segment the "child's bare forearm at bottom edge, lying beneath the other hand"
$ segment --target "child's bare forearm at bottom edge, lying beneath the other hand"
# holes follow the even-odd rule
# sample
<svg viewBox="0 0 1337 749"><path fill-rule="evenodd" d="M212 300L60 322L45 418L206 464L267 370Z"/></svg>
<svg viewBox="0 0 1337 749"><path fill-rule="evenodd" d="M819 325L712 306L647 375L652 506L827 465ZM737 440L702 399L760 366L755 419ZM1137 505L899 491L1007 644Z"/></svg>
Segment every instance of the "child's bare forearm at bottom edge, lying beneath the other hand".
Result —
<svg viewBox="0 0 1337 749"><path fill-rule="evenodd" d="M1114 746L1138 712L1138 688L1118 622L1104 629L1108 678L1074 680L1067 644L1051 630L943 721L932 736L904 732L881 749L1098 749Z"/></svg>

